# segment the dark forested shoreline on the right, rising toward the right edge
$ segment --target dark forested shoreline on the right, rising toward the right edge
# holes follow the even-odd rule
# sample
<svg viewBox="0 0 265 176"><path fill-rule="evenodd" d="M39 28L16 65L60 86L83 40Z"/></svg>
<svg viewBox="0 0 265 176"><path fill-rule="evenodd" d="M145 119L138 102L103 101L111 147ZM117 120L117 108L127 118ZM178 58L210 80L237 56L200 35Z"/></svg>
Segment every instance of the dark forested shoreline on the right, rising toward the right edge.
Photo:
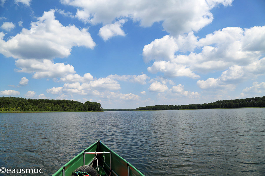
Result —
<svg viewBox="0 0 265 176"><path fill-rule="evenodd" d="M189 105L155 105L136 108L139 110L170 110L170 109L216 109L216 108L250 108L265 107L265 96L245 99L219 100L213 103Z"/></svg>

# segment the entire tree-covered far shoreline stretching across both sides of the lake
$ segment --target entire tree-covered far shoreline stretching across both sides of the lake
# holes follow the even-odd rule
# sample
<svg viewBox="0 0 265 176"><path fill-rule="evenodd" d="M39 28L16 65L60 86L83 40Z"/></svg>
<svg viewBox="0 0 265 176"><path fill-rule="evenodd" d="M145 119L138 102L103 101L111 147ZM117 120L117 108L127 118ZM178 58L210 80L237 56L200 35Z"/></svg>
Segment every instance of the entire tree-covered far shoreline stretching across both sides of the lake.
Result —
<svg viewBox="0 0 265 176"><path fill-rule="evenodd" d="M81 103L73 100L25 99L0 97L0 111L134 111L134 110L179 110L179 109L215 109L215 108L249 108L265 107L265 96L219 100L213 103L189 105L155 105L136 109L102 109L101 104L87 101Z"/></svg>

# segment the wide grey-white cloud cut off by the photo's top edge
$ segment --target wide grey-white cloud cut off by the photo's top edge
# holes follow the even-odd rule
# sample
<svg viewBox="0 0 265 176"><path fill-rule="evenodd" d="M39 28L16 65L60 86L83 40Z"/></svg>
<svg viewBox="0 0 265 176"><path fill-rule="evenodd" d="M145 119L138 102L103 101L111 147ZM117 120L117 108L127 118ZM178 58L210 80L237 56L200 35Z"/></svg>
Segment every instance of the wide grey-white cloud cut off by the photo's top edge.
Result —
<svg viewBox="0 0 265 176"><path fill-rule="evenodd" d="M218 4L231 5L232 0L186 1L83 1L61 0L61 3L77 7L76 17L87 23L110 24L119 18L139 21L143 27L162 22L163 28L174 35L198 31L213 21L213 9Z"/></svg>

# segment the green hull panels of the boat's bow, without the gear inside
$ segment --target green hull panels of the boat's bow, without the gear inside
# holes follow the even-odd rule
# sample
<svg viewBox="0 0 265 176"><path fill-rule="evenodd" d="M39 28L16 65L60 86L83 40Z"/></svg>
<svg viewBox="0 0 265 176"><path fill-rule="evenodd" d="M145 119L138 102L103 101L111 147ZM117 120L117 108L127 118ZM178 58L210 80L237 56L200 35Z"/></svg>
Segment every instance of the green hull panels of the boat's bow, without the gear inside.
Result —
<svg viewBox="0 0 265 176"><path fill-rule="evenodd" d="M105 144L103 144L100 140L89 146L85 152L111 152L111 169L112 169L112 176L127 176L128 175L128 165L130 166L130 176L144 176L139 170L133 167L130 163L117 155L115 152L110 150ZM93 158L95 157L94 154L85 154L85 165L89 165ZM83 165L83 158L84 158L84 151L79 153L76 157L66 163L64 169L65 176L71 176L72 172L77 169L78 167ZM103 154L97 154L98 164L100 166L103 165ZM96 161L94 161L95 163ZM63 167L61 167L55 174L52 176L63 176ZM106 172L107 176L110 174L110 154L105 154L105 165L104 171Z"/></svg>

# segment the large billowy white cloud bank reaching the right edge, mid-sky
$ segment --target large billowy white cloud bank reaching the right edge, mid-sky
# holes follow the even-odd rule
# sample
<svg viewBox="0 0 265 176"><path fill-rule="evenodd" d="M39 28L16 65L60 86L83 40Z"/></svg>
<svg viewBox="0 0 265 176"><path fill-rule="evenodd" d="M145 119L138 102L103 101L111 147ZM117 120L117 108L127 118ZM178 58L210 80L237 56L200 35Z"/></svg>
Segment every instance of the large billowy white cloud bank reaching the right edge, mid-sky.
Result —
<svg viewBox="0 0 265 176"><path fill-rule="evenodd" d="M261 62L261 57L265 53L264 31L265 26L248 29L227 27L214 31L205 38L196 37L193 32L175 37L165 35L144 46L143 60L146 63L153 60L153 65L148 67L148 71L162 72L165 77L199 78L196 74L198 72L224 71L228 68L241 77L239 72L235 72L242 71L239 67L246 70L253 67L256 71L252 69L251 72L262 74L263 64L258 67L256 63ZM196 48L201 50L195 52ZM184 55L182 52L189 53ZM223 78L225 79L224 75Z"/></svg>

